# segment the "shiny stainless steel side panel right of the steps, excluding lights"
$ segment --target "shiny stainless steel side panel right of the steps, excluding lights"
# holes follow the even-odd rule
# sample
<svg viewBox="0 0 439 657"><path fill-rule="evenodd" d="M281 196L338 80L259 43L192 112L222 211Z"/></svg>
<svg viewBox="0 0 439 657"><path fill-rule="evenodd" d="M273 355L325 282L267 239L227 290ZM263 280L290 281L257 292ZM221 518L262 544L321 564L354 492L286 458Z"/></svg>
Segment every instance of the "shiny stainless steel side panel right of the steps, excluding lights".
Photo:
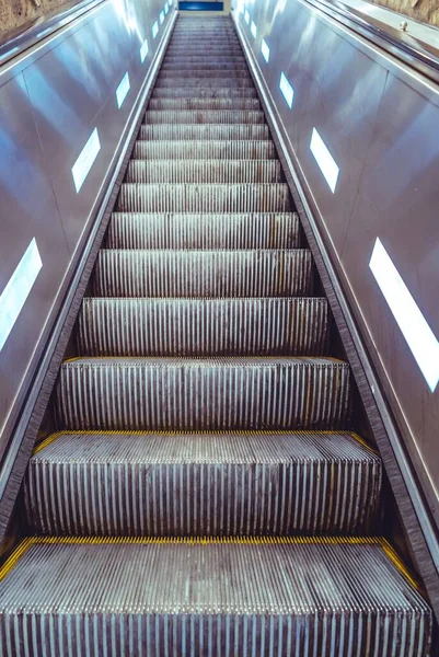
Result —
<svg viewBox="0 0 439 657"><path fill-rule="evenodd" d="M439 385L429 389L369 262L379 238L437 338L439 90L302 0L233 4L438 518ZM291 108L279 89L281 72L294 91ZM334 193L310 150L314 128L339 168Z"/></svg>

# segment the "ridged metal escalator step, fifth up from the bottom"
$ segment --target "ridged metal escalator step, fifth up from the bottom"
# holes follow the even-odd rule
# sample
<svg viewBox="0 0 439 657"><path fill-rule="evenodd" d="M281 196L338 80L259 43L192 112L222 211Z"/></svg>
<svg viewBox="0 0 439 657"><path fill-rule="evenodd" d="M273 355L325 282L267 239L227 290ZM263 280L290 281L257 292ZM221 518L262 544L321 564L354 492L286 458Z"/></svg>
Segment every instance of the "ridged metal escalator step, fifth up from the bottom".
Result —
<svg viewBox="0 0 439 657"><path fill-rule="evenodd" d="M297 297L312 291L308 249L100 251L97 297Z"/></svg>

